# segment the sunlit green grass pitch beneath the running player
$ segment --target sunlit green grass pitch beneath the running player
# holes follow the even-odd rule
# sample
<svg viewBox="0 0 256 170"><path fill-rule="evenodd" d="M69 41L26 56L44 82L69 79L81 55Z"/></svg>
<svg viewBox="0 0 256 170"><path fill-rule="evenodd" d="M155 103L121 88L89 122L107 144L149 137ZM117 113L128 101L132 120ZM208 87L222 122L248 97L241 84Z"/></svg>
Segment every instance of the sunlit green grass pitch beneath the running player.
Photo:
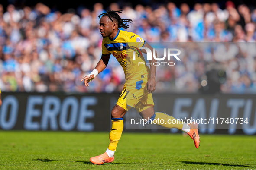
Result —
<svg viewBox="0 0 256 170"><path fill-rule="evenodd" d="M108 132L0 131L0 169L248 170L256 169L256 136L201 135L201 146L181 134L126 133L113 163L94 165Z"/></svg>

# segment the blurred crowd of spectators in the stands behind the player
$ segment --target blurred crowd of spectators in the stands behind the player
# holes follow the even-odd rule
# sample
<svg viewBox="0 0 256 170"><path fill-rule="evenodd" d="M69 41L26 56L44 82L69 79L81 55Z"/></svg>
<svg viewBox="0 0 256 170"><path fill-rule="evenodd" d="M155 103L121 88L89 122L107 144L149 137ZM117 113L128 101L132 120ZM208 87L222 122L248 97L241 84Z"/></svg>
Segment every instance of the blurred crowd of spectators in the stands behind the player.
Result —
<svg viewBox="0 0 256 170"><path fill-rule="evenodd" d="M198 92L207 80L209 67L220 67L225 80L217 79L223 93L256 93L255 48L256 9L227 1L224 9L217 3L182 3L150 6L95 3L90 9L69 9L67 13L36 6L0 4L0 88L2 91L26 92L115 92L122 91L123 69L112 56L104 72L90 87L80 80L90 73L101 57L102 36L98 16L106 10L123 10L123 19L133 23L126 31L148 42L240 42L245 45L222 45L221 55L184 55L182 64L157 70L161 89L170 92ZM248 45L250 44L250 45ZM245 46L240 47L240 46ZM247 48L246 48L247 47ZM252 50L250 48L249 50ZM211 55L210 55L211 54ZM241 55L244 54L244 55ZM161 68L161 67L160 67ZM207 89L204 89L207 90Z"/></svg>

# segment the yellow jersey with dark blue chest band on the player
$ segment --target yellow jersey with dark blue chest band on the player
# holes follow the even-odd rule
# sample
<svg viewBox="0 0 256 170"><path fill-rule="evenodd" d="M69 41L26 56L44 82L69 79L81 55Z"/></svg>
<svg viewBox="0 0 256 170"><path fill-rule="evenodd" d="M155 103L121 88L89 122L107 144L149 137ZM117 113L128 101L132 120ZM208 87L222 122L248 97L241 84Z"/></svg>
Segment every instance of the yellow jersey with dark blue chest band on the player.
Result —
<svg viewBox="0 0 256 170"><path fill-rule="evenodd" d="M119 30L116 37L110 40L108 37L103 38L102 54L112 54L123 67L126 82L141 79L148 76L149 67L143 55L139 51L139 47L143 47L145 41L139 35L133 32ZM133 51L136 55L136 60L133 60Z"/></svg>

